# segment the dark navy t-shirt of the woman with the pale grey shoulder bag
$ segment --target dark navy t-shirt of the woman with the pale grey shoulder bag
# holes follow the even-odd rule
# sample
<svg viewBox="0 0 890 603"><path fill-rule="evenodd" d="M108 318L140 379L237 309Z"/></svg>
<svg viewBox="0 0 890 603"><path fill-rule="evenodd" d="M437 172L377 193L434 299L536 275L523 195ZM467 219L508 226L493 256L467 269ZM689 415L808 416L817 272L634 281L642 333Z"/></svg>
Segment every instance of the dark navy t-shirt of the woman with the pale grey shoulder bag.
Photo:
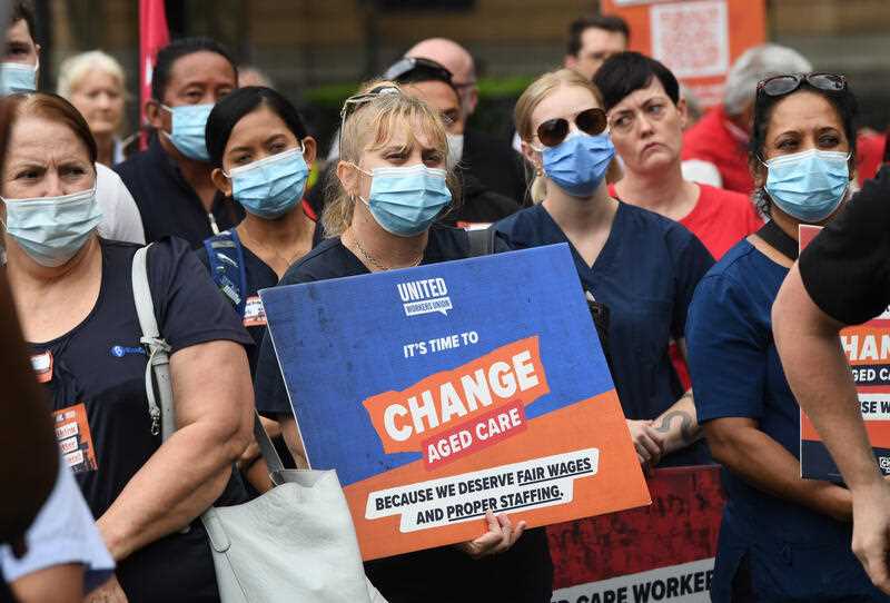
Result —
<svg viewBox="0 0 890 603"><path fill-rule="evenodd" d="M147 356L132 296L138 246L102 240L101 248L101 288L93 309L61 337L31 344L36 357L52 355L47 388L57 437L97 518L161 444L160 435L151 435ZM158 327L171 354L218 339L250 342L185 241L164 239L151 246L148 275ZM169 478L177 478L175 468ZM216 504L246 500L234 473ZM218 600L200 520L186 534L170 534L137 551L118 564L117 575L130 602Z"/></svg>

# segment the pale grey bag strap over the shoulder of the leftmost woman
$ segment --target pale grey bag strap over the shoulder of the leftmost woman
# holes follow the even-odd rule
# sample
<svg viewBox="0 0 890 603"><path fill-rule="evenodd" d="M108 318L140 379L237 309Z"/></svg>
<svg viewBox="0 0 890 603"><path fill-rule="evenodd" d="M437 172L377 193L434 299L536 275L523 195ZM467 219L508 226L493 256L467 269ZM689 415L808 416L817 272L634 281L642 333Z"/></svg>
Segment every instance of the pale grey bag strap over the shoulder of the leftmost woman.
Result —
<svg viewBox="0 0 890 603"><path fill-rule="evenodd" d="M174 404L174 389L170 382L170 346L158 330L158 320L155 317L155 302L151 299L151 288L148 284L148 249L151 245L136 251L132 258L132 294L136 303L136 314L139 317L139 327L142 329L140 343L148 349L146 365L146 395L148 397L148 412L151 416L151 434L161 434L167 441L176 431L176 407ZM154 382L152 382L154 376ZM155 396L160 397L158 405ZM158 427L160 426L160 431ZM281 458L278 456L269 435L263 427L256 409L254 409L254 436L259 444L263 457L269 472L284 469Z"/></svg>

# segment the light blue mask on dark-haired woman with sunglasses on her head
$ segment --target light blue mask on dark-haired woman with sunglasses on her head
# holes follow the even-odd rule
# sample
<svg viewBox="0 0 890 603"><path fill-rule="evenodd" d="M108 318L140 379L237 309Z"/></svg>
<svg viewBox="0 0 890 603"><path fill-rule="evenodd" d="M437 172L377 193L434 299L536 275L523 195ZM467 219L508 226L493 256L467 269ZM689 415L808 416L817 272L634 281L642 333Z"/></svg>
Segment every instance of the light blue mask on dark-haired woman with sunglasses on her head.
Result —
<svg viewBox="0 0 890 603"><path fill-rule="evenodd" d="M804 223L822 221L843 201L850 186L850 156L810 149L765 161L767 194L785 214Z"/></svg>

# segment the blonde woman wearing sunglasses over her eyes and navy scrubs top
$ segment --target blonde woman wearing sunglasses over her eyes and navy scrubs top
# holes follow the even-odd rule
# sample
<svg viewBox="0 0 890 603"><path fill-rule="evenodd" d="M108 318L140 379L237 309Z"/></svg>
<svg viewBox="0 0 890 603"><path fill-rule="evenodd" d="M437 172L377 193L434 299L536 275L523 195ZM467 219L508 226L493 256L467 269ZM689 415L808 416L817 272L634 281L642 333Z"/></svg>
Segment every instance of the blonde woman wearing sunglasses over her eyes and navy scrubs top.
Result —
<svg viewBox="0 0 890 603"><path fill-rule="evenodd" d="M685 353L686 308L713 258L689 230L609 196L615 155L600 90L570 69L544 73L516 102L534 207L495 225L513 249L567 243L589 299L609 308L612 378L640 462L709 461L692 391L668 355ZM675 421L675 419L680 421Z"/></svg>

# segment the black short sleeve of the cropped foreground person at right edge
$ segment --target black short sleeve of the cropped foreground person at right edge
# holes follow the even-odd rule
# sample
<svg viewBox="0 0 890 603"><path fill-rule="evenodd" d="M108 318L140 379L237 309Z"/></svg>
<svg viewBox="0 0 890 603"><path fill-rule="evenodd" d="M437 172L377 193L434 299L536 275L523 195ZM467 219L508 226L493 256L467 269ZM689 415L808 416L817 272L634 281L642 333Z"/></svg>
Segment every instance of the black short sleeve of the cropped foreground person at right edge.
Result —
<svg viewBox="0 0 890 603"><path fill-rule="evenodd" d="M829 316L864 323L890 304L890 167L867 180L800 256L807 291Z"/></svg>

